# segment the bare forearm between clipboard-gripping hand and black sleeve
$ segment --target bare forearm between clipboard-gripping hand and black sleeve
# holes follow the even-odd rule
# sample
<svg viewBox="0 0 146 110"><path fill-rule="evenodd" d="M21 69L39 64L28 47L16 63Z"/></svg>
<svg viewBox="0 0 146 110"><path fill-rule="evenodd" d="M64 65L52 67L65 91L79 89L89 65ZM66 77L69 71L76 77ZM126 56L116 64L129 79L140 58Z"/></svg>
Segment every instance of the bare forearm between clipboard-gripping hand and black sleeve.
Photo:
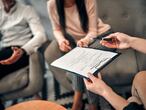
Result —
<svg viewBox="0 0 146 110"><path fill-rule="evenodd" d="M109 88L103 96L116 110L123 110L128 102Z"/></svg>

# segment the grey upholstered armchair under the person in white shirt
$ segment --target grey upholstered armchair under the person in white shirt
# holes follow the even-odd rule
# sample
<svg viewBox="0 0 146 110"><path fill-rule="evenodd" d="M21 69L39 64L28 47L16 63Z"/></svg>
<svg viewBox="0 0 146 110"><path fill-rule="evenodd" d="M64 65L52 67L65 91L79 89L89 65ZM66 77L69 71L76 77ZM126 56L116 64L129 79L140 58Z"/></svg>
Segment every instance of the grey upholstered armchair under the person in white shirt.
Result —
<svg viewBox="0 0 146 110"><path fill-rule="evenodd" d="M30 55L29 66L5 76L0 80L0 99L12 100L31 96L42 89L43 56L37 51Z"/></svg>

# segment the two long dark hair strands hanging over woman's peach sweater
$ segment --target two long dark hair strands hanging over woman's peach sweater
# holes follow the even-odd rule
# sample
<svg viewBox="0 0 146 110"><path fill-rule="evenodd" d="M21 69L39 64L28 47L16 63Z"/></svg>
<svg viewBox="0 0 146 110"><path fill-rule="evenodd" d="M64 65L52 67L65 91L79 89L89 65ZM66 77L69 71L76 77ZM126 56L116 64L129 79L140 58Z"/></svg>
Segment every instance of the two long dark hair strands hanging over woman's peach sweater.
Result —
<svg viewBox="0 0 146 110"><path fill-rule="evenodd" d="M81 22L81 27L84 32L88 32L89 19L85 6L85 0L75 0L77 10L79 12L79 18ZM62 31L65 33L66 30L66 18L64 10L64 0L56 0L57 13L59 16L59 23L61 25Z"/></svg>

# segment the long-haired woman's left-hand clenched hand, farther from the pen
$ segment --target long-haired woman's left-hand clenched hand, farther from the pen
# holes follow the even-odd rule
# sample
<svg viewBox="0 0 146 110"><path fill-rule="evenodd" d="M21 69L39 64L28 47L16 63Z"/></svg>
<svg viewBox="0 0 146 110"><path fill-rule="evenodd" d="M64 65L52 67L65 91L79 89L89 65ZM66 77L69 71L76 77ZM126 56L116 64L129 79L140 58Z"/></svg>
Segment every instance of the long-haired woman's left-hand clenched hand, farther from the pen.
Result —
<svg viewBox="0 0 146 110"><path fill-rule="evenodd" d="M68 52L71 50L69 41L66 39L63 39L62 41L59 42L59 48L63 52Z"/></svg>

